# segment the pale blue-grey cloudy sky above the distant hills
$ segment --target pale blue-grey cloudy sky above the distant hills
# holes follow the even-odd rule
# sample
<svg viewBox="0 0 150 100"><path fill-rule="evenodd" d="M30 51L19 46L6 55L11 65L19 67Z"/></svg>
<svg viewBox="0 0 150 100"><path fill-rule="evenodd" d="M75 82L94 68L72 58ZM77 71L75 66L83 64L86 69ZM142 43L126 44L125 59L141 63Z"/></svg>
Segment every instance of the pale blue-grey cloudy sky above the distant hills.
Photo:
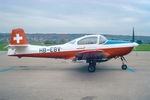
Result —
<svg viewBox="0 0 150 100"><path fill-rule="evenodd" d="M150 36L150 0L0 0L0 32Z"/></svg>

